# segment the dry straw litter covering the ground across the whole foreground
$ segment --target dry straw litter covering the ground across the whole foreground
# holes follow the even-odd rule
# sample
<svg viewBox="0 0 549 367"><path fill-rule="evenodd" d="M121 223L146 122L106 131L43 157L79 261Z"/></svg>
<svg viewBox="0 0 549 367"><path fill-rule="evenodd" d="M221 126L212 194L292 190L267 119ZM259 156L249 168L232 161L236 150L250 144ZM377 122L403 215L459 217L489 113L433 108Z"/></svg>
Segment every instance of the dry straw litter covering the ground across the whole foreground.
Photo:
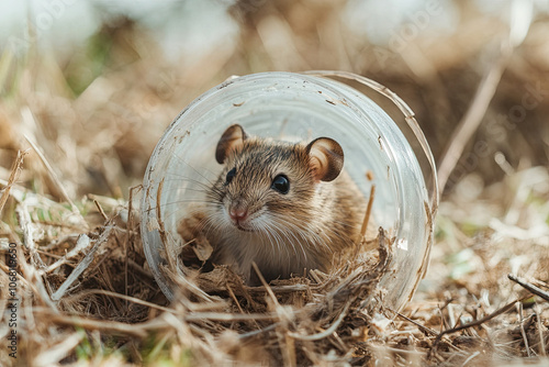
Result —
<svg viewBox="0 0 549 367"><path fill-rule="evenodd" d="M143 255L133 198L52 202L13 184L22 158L3 192L20 225L3 229L11 244L0 265L0 307L4 315L16 309L20 365L482 365L546 354L549 308L531 297L549 300L542 281L512 277L527 290L503 307L475 299L475 289L449 289L442 303L386 308L376 290L391 260L382 229L370 263L251 288L219 267L179 278L168 304ZM13 363L9 352L2 365Z"/></svg>

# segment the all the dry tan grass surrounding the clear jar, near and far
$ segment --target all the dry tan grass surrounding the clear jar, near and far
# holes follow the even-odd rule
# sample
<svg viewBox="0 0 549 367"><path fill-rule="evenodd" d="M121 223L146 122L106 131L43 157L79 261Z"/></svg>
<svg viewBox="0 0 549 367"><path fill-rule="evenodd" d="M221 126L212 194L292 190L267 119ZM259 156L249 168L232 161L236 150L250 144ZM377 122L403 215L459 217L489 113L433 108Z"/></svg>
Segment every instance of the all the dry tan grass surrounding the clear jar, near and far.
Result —
<svg viewBox="0 0 549 367"><path fill-rule="evenodd" d="M401 313L382 300L377 309L361 307L390 254L383 236L381 256L369 265L374 271L350 262L328 278L292 285L292 292L284 283L272 286L274 293L246 289L226 273L231 281L217 293L181 285L182 297L168 304L159 291L141 245L138 189L131 188L164 129L200 92L233 74L351 70L396 91L440 157L507 37L497 16L461 1L453 32L427 29L404 49L374 46L339 21L344 7L240 1L233 9L237 46L192 64L167 60L127 20L103 26L90 41L94 54L82 47L61 59L36 44L25 55L2 51L0 246L8 256L9 243L16 244L19 343L16 363L2 343L0 365L549 363L545 14L506 60L472 136L460 142L430 268ZM92 73L75 71L85 69ZM10 332L9 265L2 257L2 341Z"/></svg>

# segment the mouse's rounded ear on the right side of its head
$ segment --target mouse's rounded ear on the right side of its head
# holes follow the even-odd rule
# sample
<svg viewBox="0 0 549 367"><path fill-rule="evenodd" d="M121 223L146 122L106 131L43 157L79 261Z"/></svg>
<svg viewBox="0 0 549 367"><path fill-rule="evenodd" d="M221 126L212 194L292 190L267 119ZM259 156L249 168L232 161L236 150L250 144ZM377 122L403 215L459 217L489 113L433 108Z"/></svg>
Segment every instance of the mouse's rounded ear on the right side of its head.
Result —
<svg viewBox="0 0 549 367"><path fill-rule="evenodd" d="M332 181L339 176L344 163L339 143L329 137L318 137L309 143L305 149L316 181Z"/></svg>

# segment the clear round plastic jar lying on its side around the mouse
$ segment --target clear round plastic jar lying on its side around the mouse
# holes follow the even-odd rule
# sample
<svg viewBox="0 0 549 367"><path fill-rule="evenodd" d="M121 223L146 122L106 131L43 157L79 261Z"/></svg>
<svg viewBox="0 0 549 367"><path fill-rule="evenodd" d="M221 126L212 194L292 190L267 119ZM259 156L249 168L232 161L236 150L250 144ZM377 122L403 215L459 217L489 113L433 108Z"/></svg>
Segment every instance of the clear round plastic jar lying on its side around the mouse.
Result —
<svg viewBox="0 0 549 367"><path fill-rule="evenodd" d="M404 119L393 121L371 99L334 77L381 92L395 102ZM175 119L150 157L142 201L145 255L164 293L173 297L160 266L173 264L177 256L173 248L182 241L178 223L188 215L200 186L221 171L215 146L234 123L250 135L303 141L329 136L341 145L345 169L366 198L376 185L374 223L395 236L394 271L388 271L380 286L388 290L385 304L402 308L425 274L433 243L438 201L433 156L402 100L372 80L343 71L233 77L197 98ZM407 138L404 129L412 132ZM418 147L416 152L412 146ZM371 181L365 178L368 170L373 173Z"/></svg>

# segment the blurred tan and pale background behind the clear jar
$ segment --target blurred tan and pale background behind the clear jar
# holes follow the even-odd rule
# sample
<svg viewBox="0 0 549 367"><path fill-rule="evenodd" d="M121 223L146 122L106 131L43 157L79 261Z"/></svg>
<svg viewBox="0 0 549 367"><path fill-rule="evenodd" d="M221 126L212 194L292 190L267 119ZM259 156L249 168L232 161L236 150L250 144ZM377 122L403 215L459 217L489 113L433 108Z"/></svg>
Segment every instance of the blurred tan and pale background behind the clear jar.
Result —
<svg viewBox="0 0 549 367"><path fill-rule="evenodd" d="M479 229L549 246L548 12L541 0L2 1L0 179L33 142L69 198L127 199L172 119L227 77L349 70L408 103L439 164L462 143L437 230L459 279L484 259ZM33 152L19 181L63 200Z"/></svg>

